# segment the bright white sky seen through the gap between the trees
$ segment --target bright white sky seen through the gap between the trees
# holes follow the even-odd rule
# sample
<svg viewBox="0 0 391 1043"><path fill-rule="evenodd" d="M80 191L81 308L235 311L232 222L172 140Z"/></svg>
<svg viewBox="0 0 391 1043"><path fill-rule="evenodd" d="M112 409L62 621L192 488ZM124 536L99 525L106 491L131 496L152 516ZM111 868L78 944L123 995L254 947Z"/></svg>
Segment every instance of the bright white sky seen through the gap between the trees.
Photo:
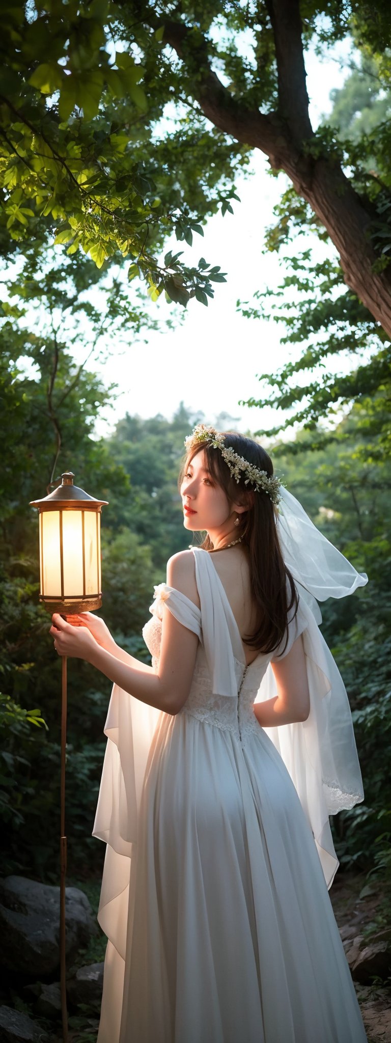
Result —
<svg viewBox="0 0 391 1043"><path fill-rule="evenodd" d="M314 126L331 110L329 91L342 86L346 77L348 51L345 42L335 48L333 58L322 63L313 52L307 56ZM103 418L100 421L99 433L106 433L107 425L112 428L126 411L142 417L163 413L171 419L181 399L192 411L202 410L205 422L214 422L223 411L236 418L241 431L254 432L261 425L275 422L271 408L261 414L258 408L238 405L240 398L260 397L256 374L279 369L289 354L289 348L279 344L283 326L245 319L236 310L238 298L251 300L256 289L276 287L284 275L276 254L262 253L265 228L273 222L272 209L284 178L268 175L267 160L261 152L253 153L251 169L252 177L238 180L241 202L234 201L234 216L211 218L203 239L194 236L192 249L176 240L166 247L184 249L184 259L193 263L204 257L211 264L219 264L227 273L227 283L215 284L215 299L207 308L190 301L185 321L176 330L152 333L147 345L130 343L121 353L114 373L119 382L114 409L105 422ZM152 307L157 308L161 320L172 314L163 295ZM107 383L113 380L113 362L112 358L96 367Z"/></svg>

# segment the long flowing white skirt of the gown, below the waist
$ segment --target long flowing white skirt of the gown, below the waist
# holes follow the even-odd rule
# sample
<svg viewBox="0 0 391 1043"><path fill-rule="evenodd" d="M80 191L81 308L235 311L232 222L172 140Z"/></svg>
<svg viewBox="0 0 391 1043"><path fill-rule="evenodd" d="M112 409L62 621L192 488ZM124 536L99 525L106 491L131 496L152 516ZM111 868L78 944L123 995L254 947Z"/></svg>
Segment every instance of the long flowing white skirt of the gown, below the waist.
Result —
<svg viewBox="0 0 391 1043"><path fill-rule="evenodd" d="M312 830L263 729L242 746L162 714L128 908L99 1043L365 1043Z"/></svg>

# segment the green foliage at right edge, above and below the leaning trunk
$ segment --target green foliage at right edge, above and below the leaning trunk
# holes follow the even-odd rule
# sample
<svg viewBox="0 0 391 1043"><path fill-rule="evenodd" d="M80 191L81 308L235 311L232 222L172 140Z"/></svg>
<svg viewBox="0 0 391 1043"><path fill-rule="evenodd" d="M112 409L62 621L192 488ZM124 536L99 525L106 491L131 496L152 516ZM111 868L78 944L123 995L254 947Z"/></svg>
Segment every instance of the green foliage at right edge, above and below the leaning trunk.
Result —
<svg viewBox="0 0 391 1043"><path fill-rule="evenodd" d="M321 125L308 150L320 155L322 149L333 149L351 169L352 185L370 202L368 236L381 270L391 257L391 90L386 57L382 64L364 51L361 65L352 65L343 88L333 91L332 98L329 120ZM285 191L274 213L276 223L267 229L265 244L284 259L286 275L276 293L256 291L253 301L238 301L238 309L249 319L263 317L282 323L280 343L292 345L291 359L279 371L262 373L260 397L241 399L241 404L272 405L280 410L272 430L259 431L274 437L283 426L299 423L315 431L319 421L333 423L341 408L360 403L365 409L366 431L371 430L374 436L373 452L390 453L390 338L357 295L346 289L324 227L292 187ZM311 245L304 242L300 250L298 237L306 239L309 234L316 235L318 245L312 238Z"/></svg>

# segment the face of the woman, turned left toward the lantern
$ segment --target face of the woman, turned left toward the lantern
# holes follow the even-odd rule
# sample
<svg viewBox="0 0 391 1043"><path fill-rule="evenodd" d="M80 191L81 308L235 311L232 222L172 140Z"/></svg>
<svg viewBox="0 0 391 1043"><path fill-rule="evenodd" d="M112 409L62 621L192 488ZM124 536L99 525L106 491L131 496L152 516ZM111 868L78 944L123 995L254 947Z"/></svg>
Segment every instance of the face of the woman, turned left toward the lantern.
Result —
<svg viewBox="0 0 391 1043"><path fill-rule="evenodd" d="M213 533L225 530L227 523L230 527L235 512L224 490L206 468L205 454L201 450L185 468L180 495L185 528L191 532L206 531L212 537Z"/></svg>

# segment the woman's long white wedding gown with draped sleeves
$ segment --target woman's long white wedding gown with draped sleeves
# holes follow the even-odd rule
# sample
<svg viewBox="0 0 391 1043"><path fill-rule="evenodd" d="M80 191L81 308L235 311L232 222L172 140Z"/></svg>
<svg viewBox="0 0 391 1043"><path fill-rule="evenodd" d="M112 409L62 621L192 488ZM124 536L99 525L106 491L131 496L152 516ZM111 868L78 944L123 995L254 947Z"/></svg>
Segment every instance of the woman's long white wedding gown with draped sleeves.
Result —
<svg viewBox="0 0 391 1043"><path fill-rule="evenodd" d="M342 680L300 598L285 654L302 633L311 712L267 733L253 703L276 652L245 668L212 557L194 555L201 609L160 584L143 629L152 665L164 605L198 634L186 704L172 717L115 685L105 726L98 1043L365 1043L327 892L327 807L363 799L333 783L331 744L322 763Z"/></svg>

